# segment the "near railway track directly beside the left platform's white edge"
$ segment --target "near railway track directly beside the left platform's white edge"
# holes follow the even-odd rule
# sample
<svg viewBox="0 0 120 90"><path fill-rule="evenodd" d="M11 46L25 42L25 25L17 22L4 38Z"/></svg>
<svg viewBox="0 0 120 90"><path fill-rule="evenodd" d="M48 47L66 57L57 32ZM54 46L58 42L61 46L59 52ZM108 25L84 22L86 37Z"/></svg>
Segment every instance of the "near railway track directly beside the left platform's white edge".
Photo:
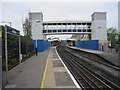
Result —
<svg viewBox="0 0 120 90"><path fill-rule="evenodd" d="M82 89L116 90L119 88L110 81L94 74L92 71L84 67L82 63L80 63L81 58L66 50L65 47L57 47L57 51Z"/></svg>

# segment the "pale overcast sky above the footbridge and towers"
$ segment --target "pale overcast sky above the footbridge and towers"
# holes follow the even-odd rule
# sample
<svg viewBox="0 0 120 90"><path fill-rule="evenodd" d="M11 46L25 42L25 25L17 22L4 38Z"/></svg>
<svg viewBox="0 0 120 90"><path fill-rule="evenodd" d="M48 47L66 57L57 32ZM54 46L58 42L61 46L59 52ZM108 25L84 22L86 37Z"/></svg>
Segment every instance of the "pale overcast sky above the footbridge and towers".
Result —
<svg viewBox="0 0 120 90"><path fill-rule="evenodd" d="M107 2L95 2L92 0L88 2L78 2L78 0L59 0L62 2L37 2L36 0L29 0L29 2L8 2L4 0L0 3L0 22L12 22L12 26L21 31L22 21L27 17L28 12L42 12L44 21L53 20L84 20L90 21L93 12L107 12L107 27L118 28L118 1L107 0ZM66 1L66 2L63 2Z"/></svg>

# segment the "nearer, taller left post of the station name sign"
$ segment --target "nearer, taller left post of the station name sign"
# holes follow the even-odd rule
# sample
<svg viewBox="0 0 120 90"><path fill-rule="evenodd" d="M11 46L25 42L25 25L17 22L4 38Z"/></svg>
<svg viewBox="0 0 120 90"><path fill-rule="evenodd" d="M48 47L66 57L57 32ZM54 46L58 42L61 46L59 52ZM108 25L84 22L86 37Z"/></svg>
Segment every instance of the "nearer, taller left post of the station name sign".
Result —
<svg viewBox="0 0 120 90"><path fill-rule="evenodd" d="M6 82L8 84L8 49L7 49L7 26L5 25L5 60L6 60Z"/></svg>

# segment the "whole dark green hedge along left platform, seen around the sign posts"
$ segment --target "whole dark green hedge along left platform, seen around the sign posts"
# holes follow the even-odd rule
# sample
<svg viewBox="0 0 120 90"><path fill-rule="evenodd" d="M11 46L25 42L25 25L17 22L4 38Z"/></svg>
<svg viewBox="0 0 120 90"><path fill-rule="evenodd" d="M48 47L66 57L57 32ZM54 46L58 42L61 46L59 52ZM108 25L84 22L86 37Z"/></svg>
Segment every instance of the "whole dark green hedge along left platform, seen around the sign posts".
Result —
<svg viewBox="0 0 120 90"><path fill-rule="evenodd" d="M25 58L33 54L33 40L28 36L20 36L21 38L21 53ZM19 36L7 34L8 47L8 68L11 69L19 64ZM2 26L2 62L3 70L5 70L5 27Z"/></svg>

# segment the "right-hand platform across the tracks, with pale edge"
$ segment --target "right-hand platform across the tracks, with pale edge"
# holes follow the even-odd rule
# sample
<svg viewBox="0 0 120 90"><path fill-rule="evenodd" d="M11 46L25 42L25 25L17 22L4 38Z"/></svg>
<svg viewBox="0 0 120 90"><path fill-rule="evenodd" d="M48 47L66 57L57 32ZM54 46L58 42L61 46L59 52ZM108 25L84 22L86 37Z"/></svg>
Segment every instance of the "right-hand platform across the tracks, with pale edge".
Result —
<svg viewBox="0 0 120 90"><path fill-rule="evenodd" d="M85 51L85 52L89 52L89 53L93 53L93 54L97 54L98 56L104 58L105 60L113 63L114 65L120 67L120 62L118 60L118 54L112 54L112 53L106 53L103 51L98 51L98 50L90 50L90 49L82 49L82 48L77 48L77 47L71 47L68 46L69 48L73 48L73 49L78 49L81 51Z"/></svg>

